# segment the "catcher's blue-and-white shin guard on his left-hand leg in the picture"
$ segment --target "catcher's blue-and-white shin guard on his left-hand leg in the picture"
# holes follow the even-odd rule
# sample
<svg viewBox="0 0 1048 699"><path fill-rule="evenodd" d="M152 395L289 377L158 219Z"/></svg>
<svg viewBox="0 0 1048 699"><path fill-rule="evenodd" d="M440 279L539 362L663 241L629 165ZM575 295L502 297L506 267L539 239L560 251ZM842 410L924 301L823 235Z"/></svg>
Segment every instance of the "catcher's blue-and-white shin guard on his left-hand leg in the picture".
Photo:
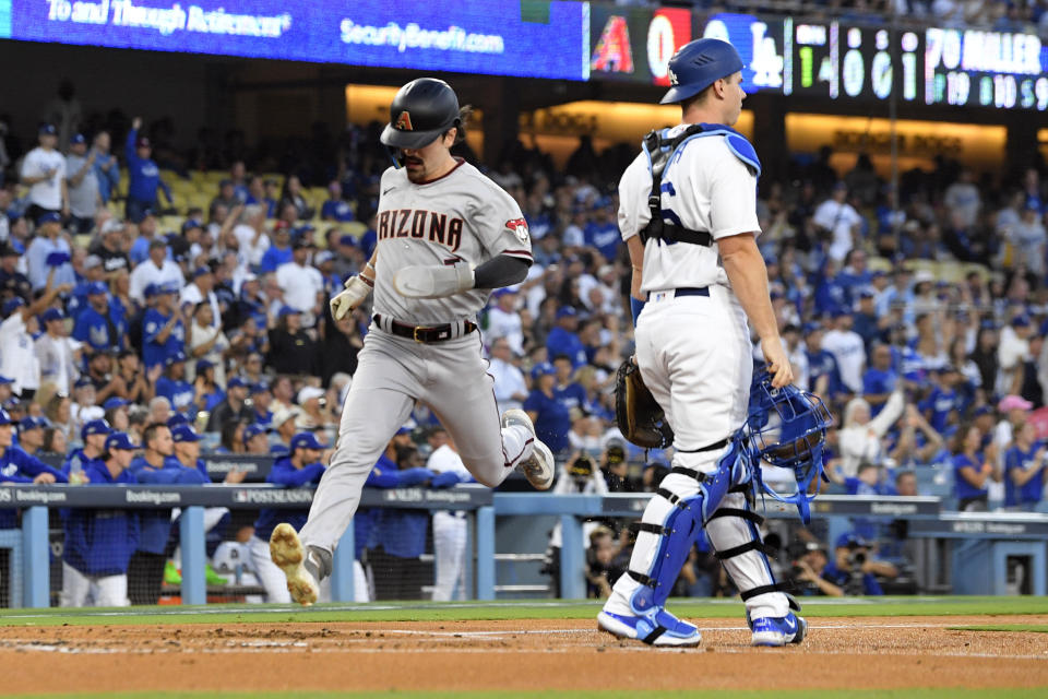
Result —
<svg viewBox="0 0 1048 699"><path fill-rule="evenodd" d="M718 450L677 452L644 510L628 574L641 583L630 605L636 613L666 603L703 522L731 487L745 458L734 440Z"/></svg>

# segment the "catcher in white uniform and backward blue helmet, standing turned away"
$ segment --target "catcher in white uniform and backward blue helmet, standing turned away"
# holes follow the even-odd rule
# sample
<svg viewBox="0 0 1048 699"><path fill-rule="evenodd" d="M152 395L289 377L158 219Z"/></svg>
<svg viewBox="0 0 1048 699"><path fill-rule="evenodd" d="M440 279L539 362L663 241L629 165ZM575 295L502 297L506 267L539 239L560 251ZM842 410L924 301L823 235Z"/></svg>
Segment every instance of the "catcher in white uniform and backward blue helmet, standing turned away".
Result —
<svg viewBox="0 0 1048 699"><path fill-rule="evenodd" d="M718 39L669 62L681 123L653 131L619 182L619 227L633 264L636 364L675 434L672 469L639 525L630 568L600 628L655 645L694 645L698 628L664 605L704 528L746 602L757 645L799 642L803 619L772 577L746 496L753 371L749 322L775 390L793 380L757 247L753 147L730 129L742 109L742 60ZM646 300L646 305L645 305Z"/></svg>

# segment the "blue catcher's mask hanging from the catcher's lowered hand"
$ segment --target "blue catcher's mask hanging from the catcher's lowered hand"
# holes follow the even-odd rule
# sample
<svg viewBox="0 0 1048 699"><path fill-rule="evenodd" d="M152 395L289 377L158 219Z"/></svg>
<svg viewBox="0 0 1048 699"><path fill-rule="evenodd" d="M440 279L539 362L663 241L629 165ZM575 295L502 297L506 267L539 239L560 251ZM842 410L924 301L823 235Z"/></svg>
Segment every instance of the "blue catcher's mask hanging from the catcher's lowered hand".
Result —
<svg viewBox="0 0 1048 699"><path fill-rule="evenodd" d="M773 466L790 469L797 479L797 491L781 495L761 478L760 464L753 464L753 474L763 493L779 502L797 506L800 519L811 519L808 503L818 495L809 495L812 481L823 475L822 448L826 428L833 424L830 411L822 400L795 386L772 387L772 376L762 369L750 387L749 417L746 420L750 453L754 461L763 460Z"/></svg>

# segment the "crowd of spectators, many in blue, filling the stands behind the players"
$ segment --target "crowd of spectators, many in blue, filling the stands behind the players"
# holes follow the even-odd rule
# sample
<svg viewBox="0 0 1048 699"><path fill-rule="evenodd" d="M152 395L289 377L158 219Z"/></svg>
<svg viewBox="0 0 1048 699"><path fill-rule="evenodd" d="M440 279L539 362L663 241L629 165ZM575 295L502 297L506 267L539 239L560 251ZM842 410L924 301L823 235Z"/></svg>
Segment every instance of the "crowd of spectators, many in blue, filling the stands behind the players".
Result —
<svg viewBox="0 0 1048 699"><path fill-rule="evenodd" d="M272 455L283 464L272 482L315 482L369 323L367 307L334 322L326 301L376 245L389 163L377 125L337 139L317 129L296 159L235 134L179 153L166 120L147 132L138 118L50 114L37 133L3 129L0 141L0 482L204 483L210 452ZM490 163L525 214L535 259L480 319L490 374L500 407L527 411L558 453L561 491L644 490L668 464L621 440L614 420L615 369L632 342L616 183L634 152L597 153L583 138L558 168L516 141ZM832 155L797 154L788 177L761 180L759 242L797 383L836 417L833 488L1041 507L1044 164L1012 178L943 156L893 190L865 154L844 171ZM419 405L369 483L460 482L427 463L446 449L442 435ZM225 532L245 557L265 558L275 522L263 513L253 534L230 532L228 512L213 514L215 544ZM361 552L421 555L428 518L374 517L358 524ZM162 576L177 580L170 513L128 520L107 522L129 542L109 568L132 578L133 600L155 601ZM621 559L628 536L616 534L596 530L592 554ZM109 570L69 555L66 566L93 584ZM693 591L716 576L700 578ZM599 592L599 576L591 582Z"/></svg>

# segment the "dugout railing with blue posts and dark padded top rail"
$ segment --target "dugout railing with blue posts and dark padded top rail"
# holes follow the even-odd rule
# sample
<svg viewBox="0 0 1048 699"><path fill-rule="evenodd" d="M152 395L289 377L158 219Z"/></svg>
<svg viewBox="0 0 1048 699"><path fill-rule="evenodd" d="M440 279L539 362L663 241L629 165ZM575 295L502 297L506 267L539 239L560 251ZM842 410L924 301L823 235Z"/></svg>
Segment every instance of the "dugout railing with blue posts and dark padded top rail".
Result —
<svg viewBox="0 0 1048 699"><path fill-rule="evenodd" d="M480 486L449 489L398 488L365 489L361 507L463 510L469 520L469 590L467 596L495 600L497 560L497 519L520 529L517 522L552 518L561 526L560 589L565 599L585 596L585 548L582 526L585 520L639 518L650 494L551 495L492 493ZM0 547L10 549L10 568L3 577L10 583L11 606L50 605L50 508L169 509L181 508L178 538L181 545L181 601L205 604L204 508L230 510L302 508L312 499L312 490L284 489L265 484L236 486L64 486L12 485L0 487L0 509L20 509L21 530L0 531ZM765 517L796 518L793 506L773 500L758 505ZM505 519L503 519L505 518ZM523 519L522 519L523 518ZM931 547L929 567L948 571L946 588L965 594L1005 594L1007 573L1016 559L1024 561L1029 574L1028 590L1048 594L1048 514L1011 512L944 512L937 497L820 496L812 503L812 518L824 520L826 540L848 531L855 518L907 522L908 536L928 543L951 542L948 550ZM334 558L332 599L352 602L354 597L354 528L345 532ZM513 550L527 560L537 554ZM503 555L503 559L505 556ZM510 556L509 558L513 558ZM535 590L535 585L521 588ZM513 590L514 585L503 585Z"/></svg>

